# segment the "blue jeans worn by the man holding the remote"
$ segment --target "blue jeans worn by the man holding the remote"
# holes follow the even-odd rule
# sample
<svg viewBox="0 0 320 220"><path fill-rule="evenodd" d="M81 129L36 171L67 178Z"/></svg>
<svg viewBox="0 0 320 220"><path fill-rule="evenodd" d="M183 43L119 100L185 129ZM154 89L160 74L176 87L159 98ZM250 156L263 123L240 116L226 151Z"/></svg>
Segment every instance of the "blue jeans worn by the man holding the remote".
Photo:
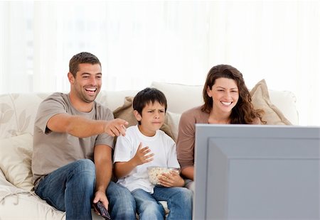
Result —
<svg viewBox="0 0 320 220"><path fill-rule="evenodd" d="M43 178L36 194L60 211L66 219L92 219L95 164L82 159L58 168ZM129 190L110 182L107 188L112 219L135 219L135 202Z"/></svg>

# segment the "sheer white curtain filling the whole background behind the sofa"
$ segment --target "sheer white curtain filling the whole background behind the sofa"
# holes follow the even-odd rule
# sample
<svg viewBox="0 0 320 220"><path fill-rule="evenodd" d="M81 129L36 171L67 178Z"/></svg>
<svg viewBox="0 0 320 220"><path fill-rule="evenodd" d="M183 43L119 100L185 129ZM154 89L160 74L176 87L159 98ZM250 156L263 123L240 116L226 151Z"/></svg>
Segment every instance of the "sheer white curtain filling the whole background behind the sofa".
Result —
<svg viewBox="0 0 320 220"><path fill-rule="evenodd" d="M0 94L68 91L68 61L102 62L103 89L152 81L203 84L237 67L249 88L297 96L300 123L320 125L319 1L1 1Z"/></svg>

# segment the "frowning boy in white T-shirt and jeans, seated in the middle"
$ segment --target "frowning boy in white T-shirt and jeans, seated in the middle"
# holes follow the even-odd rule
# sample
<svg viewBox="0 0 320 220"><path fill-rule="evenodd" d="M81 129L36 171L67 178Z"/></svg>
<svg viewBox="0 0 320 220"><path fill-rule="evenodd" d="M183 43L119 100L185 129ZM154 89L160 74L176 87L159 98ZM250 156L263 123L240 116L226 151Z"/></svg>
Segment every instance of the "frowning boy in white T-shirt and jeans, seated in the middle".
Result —
<svg viewBox="0 0 320 220"><path fill-rule="evenodd" d="M168 204L167 219L191 219L193 194L182 187L181 176L176 172L162 174L161 186L154 186L146 169L180 167L174 140L159 130L166 114L166 97L158 89L146 88L134 97L132 105L138 125L127 128L126 136L117 138L114 150L117 183L131 191L142 220L164 219L164 208L159 201Z"/></svg>

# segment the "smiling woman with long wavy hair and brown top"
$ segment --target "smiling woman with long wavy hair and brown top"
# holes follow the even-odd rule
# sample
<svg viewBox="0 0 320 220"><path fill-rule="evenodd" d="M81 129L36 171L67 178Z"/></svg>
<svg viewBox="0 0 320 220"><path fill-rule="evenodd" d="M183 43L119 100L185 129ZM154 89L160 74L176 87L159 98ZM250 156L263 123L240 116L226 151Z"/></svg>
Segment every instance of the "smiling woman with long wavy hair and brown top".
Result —
<svg viewBox="0 0 320 220"><path fill-rule="evenodd" d="M183 112L177 139L177 156L186 187L194 191L193 163L196 123L260 124L262 110L251 104L250 92L242 73L230 65L217 65L208 72L203 87L202 106Z"/></svg>

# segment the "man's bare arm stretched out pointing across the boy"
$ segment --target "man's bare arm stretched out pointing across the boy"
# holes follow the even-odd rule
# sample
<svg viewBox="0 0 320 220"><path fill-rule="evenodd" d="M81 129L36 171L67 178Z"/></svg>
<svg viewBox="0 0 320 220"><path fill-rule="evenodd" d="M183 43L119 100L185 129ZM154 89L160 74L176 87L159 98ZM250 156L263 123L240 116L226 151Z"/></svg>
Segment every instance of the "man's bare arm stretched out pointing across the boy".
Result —
<svg viewBox="0 0 320 220"><path fill-rule="evenodd" d="M70 133L78 138L107 133L110 136L125 135L128 122L123 119L113 119L110 121L90 120L81 116L71 116L70 114L55 114L52 116L47 127L50 131L60 133Z"/></svg>

